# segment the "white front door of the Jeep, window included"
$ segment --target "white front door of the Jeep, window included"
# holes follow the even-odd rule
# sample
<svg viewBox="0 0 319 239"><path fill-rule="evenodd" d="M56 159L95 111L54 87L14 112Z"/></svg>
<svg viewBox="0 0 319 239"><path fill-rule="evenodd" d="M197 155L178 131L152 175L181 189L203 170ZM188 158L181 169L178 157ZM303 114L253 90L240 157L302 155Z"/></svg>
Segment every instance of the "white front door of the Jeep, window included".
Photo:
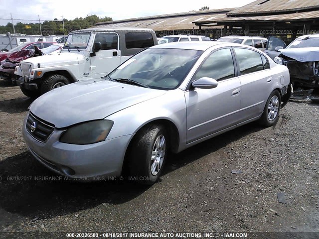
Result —
<svg viewBox="0 0 319 239"><path fill-rule="evenodd" d="M116 32L96 33L94 42L100 42L102 48L91 56L91 72L100 77L105 76L121 63L119 35Z"/></svg>

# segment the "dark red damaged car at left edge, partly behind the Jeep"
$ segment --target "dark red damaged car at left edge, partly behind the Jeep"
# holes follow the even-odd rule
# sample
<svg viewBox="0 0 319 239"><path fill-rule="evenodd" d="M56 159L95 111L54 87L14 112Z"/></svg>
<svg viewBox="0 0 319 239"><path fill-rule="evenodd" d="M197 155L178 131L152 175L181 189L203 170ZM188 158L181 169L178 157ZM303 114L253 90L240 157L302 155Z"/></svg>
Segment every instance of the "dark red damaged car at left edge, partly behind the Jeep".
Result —
<svg viewBox="0 0 319 239"><path fill-rule="evenodd" d="M5 60L1 61L0 77L4 80L14 81L17 76L14 75L15 67L25 59L35 56L54 54L60 52L63 48L62 44L53 44L49 47L40 49L34 45L34 49L24 49L10 54Z"/></svg>

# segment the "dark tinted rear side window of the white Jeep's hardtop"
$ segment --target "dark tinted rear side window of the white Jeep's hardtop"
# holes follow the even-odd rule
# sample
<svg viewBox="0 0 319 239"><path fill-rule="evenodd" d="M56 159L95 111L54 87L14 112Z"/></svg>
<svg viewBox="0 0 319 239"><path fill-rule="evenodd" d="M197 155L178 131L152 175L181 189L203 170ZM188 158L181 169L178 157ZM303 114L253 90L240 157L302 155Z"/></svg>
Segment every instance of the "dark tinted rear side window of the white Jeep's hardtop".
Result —
<svg viewBox="0 0 319 239"><path fill-rule="evenodd" d="M127 49L151 47L154 39L150 32L128 32L125 33L125 44Z"/></svg>

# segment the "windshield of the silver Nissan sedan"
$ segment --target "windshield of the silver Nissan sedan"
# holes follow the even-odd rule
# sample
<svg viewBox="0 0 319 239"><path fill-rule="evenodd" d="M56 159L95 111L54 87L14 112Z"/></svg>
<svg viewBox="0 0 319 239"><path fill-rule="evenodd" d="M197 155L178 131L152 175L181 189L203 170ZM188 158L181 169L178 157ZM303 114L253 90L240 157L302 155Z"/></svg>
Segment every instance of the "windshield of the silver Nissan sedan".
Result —
<svg viewBox="0 0 319 239"><path fill-rule="evenodd" d="M196 50L150 48L124 62L109 77L171 90L182 83L201 54Z"/></svg>

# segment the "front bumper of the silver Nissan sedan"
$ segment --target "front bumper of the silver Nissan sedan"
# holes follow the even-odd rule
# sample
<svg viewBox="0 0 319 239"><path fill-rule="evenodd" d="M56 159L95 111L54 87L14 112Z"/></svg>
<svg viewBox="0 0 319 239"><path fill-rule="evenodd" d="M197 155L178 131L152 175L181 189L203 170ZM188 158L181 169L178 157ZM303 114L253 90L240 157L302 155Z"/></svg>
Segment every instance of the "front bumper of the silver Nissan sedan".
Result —
<svg viewBox="0 0 319 239"><path fill-rule="evenodd" d="M26 130L22 134L32 155L50 170L74 179L102 180L101 177L121 175L127 145L133 135L103 142L75 145L59 142L63 130L54 129L46 142L41 143Z"/></svg>

